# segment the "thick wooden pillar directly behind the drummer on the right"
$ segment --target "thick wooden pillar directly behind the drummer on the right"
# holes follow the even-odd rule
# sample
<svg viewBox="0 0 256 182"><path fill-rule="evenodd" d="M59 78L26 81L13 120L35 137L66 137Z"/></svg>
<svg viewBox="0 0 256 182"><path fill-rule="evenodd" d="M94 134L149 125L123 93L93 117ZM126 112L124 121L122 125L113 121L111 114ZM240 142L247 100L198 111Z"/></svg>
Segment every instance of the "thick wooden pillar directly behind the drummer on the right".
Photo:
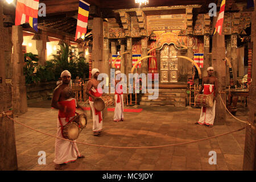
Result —
<svg viewBox="0 0 256 182"><path fill-rule="evenodd" d="M213 17L213 30L216 24L217 17ZM224 35L219 35L216 32L212 38L212 66L214 68L214 75L218 79L218 91L224 92L226 85L226 66L225 66L225 37ZM224 103L226 102L226 94L220 94ZM215 107L215 119L214 125L224 125L226 121L225 106L222 104L220 97L216 98Z"/></svg>

